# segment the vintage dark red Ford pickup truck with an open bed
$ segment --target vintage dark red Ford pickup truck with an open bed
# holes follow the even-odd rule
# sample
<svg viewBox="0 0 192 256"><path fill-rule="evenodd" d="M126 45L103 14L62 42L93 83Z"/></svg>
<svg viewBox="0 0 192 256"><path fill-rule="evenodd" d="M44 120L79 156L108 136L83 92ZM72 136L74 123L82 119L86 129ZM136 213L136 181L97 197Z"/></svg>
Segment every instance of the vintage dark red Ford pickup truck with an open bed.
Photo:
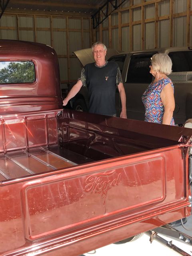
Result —
<svg viewBox="0 0 192 256"><path fill-rule="evenodd" d="M78 256L190 216L191 136L62 109L56 52L0 40L0 255Z"/></svg>

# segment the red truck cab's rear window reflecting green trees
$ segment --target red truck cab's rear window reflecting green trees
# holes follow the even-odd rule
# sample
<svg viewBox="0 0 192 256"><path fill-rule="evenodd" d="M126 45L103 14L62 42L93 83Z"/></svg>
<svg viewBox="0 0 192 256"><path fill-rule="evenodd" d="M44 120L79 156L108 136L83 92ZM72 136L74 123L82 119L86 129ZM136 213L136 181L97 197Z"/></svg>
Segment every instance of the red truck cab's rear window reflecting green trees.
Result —
<svg viewBox="0 0 192 256"><path fill-rule="evenodd" d="M0 84L32 83L34 80L32 61L0 61Z"/></svg>

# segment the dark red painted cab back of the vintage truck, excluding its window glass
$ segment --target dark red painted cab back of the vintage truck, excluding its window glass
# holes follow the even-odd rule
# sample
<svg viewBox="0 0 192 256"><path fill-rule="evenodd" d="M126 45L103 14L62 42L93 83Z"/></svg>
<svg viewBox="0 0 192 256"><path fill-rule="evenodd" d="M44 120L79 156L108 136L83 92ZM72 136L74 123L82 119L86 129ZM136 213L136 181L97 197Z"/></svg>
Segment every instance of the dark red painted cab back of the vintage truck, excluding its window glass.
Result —
<svg viewBox="0 0 192 256"><path fill-rule="evenodd" d="M0 84L0 114L62 108L56 52L33 42L0 40L0 62L30 60L35 65L33 83Z"/></svg>

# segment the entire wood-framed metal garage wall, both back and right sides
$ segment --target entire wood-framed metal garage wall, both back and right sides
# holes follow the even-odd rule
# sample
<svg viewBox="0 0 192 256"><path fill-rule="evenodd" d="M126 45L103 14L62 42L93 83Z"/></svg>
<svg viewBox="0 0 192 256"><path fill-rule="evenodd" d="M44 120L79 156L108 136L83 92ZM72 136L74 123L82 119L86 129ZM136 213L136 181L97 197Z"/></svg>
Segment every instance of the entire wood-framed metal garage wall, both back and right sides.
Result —
<svg viewBox="0 0 192 256"><path fill-rule="evenodd" d="M52 46L64 86L80 77L81 65L72 52L90 48L96 41L120 51L192 46L192 0L126 0L96 29L92 19L83 14L4 12L0 38Z"/></svg>

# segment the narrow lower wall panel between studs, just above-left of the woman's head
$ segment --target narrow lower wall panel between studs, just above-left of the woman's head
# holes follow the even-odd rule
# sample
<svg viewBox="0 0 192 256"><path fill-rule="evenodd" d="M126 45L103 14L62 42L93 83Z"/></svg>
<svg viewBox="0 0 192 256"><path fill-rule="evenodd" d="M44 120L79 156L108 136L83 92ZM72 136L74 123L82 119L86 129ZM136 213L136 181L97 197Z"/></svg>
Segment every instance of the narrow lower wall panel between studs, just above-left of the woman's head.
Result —
<svg viewBox="0 0 192 256"><path fill-rule="evenodd" d="M155 24L149 22L145 25L145 49L155 48Z"/></svg>

